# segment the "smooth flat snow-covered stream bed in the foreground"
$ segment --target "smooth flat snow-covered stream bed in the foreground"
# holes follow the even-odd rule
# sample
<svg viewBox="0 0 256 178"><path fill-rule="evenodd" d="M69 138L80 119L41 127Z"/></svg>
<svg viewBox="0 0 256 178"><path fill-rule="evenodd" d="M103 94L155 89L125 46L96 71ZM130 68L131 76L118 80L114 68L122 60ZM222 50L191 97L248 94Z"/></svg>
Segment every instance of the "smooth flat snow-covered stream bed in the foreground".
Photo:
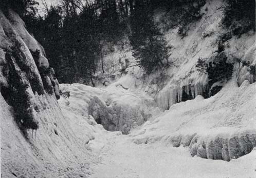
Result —
<svg viewBox="0 0 256 178"><path fill-rule="evenodd" d="M207 160L190 155L188 147L161 143L135 144L131 135L105 133L88 147L100 162L90 165L92 177L255 177L256 150L231 160Z"/></svg>

